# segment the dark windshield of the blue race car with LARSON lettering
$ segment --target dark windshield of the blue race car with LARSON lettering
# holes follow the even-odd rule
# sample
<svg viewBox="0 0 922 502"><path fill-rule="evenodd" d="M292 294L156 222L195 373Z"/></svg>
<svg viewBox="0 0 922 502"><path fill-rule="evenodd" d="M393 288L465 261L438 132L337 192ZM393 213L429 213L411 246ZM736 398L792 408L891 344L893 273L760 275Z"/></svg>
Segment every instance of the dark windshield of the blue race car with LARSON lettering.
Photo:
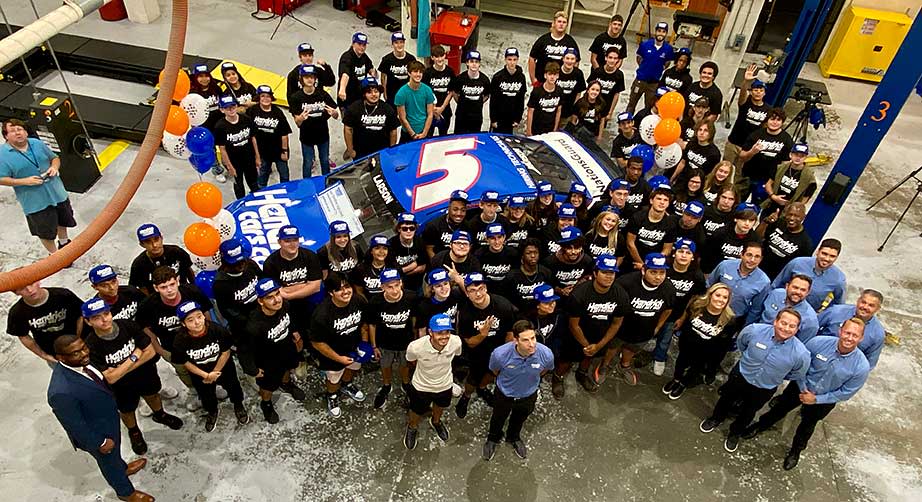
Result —
<svg viewBox="0 0 922 502"><path fill-rule="evenodd" d="M404 208L393 196L381 172L378 154L365 157L327 177L327 186L336 182L342 182L352 207L358 213L359 221L365 228L363 237L394 232L394 221Z"/></svg>

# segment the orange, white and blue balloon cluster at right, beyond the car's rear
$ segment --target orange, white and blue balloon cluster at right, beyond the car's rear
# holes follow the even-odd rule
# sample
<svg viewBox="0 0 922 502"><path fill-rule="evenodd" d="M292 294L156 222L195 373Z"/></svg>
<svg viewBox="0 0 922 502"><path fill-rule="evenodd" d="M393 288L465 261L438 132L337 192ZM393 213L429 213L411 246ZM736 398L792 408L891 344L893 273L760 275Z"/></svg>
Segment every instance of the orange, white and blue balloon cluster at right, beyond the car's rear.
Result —
<svg viewBox="0 0 922 502"><path fill-rule="evenodd" d="M667 92L656 102L656 109L658 113L651 113L640 121L640 138L646 144L631 150L632 156L644 159L644 174L654 165L662 172L682 160L682 147L676 141L682 134L679 119L685 113L685 98L676 91Z"/></svg>

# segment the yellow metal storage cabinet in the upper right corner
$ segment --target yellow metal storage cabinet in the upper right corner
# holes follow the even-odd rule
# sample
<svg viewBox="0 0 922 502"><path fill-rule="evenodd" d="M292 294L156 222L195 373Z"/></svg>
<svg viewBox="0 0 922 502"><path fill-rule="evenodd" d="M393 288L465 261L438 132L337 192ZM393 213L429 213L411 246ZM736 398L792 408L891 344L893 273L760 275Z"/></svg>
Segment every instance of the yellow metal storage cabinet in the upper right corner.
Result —
<svg viewBox="0 0 922 502"><path fill-rule="evenodd" d="M911 24L906 14L849 7L820 59L820 71L824 77L880 82Z"/></svg>

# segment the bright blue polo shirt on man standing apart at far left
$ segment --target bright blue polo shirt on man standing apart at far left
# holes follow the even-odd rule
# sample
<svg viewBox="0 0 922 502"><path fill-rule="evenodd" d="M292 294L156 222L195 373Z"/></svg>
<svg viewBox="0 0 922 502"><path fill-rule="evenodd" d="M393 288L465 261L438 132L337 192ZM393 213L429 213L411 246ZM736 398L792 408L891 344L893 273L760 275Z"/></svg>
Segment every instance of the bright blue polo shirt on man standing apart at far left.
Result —
<svg viewBox="0 0 922 502"><path fill-rule="evenodd" d="M0 178L41 176L56 158L48 145L35 138L29 138L29 148L25 152L7 143L0 147ZM13 192L26 214L37 213L67 200L67 190L60 176L52 176L41 185L15 186Z"/></svg>

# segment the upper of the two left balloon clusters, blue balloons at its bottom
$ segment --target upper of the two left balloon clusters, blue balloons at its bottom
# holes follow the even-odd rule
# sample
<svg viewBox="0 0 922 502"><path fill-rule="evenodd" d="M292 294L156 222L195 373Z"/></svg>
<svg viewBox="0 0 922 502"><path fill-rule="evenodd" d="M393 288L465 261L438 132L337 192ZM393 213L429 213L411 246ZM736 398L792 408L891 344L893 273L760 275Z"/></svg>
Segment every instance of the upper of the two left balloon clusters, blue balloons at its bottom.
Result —
<svg viewBox="0 0 922 502"><path fill-rule="evenodd" d="M163 72L160 72L163 81ZM163 131L163 148L178 159L188 159L199 174L205 174L215 163L214 136L201 127L208 120L208 100L199 94L189 94L190 82L186 72L180 70L173 90L166 125Z"/></svg>

